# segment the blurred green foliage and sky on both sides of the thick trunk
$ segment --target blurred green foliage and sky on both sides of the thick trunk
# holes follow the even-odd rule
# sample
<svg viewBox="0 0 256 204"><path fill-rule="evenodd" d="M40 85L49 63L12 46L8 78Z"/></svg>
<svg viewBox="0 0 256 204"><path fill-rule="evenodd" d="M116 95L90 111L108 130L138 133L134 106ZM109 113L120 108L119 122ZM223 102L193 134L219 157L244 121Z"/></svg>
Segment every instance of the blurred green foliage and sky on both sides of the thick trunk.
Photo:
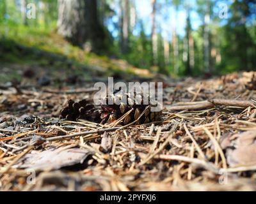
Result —
<svg viewBox="0 0 256 204"><path fill-rule="evenodd" d="M36 31L56 33L58 20L58 1L26 0L36 5L36 19L22 22L21 1L0 1L0 38L8 36L12 27L20 27L19 32L33 28ZM256 3L253 0L234 0L227 3L227 18L218 15L220 0L159 0L156 4L157 59L152 57L152 38L150 14L148 21L140 18L136 1L127 0L127 22L129 22L129 41L127 50L122 42L121 8L122 0L97 0L99 22L104 26L108 38L104 45L108 48L102 55L121 58L138 68L158 71L165 75L204 75L209 68L214 74L230 71L256 69ZM151 1L148 0L150 6ZM189 8L188 8L189 3ZM124 6L124 4L123 4ZM166 13L166 8L172 8ZM208 10L207 10L208 9ZM151 10L151 8L148 8ZM171 12L171 13L170 13ZM184 16L184 32L179 33L179 22L167 21L170 15L178 20ZM200 25L193 29L195 13ZM205 15L209 15L209 32L205 30ZM24 19L23 19L24 20ZM165 24L165 26L163 26ZM166 27L172 29L166 31ZM136 32L134 32L136 31ZM166 34L167 33L167 34ZM168 36L168 38L166 38ZM51 38L51 35L49 35ZM205 43L207 40L207 43ZM156 42L155 42L156 43ZM123 50L122 50L123 48ZM208 52L208 59L205 57ZM123 51L123 52L122 52ZM166 53L168 52L168 53ZM169 59L166 59L166 56ZM156 57L156 56L155 56ZM153 61L156 61L153 63Z"/></svg>

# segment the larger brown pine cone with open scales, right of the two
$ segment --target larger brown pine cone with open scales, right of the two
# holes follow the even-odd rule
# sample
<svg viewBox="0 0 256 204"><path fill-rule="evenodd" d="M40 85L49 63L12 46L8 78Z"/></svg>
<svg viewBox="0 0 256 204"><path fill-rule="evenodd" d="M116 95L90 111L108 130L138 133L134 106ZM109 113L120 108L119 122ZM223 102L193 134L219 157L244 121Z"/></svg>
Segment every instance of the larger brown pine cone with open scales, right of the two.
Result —
<svg viewBox="0 0 256 204"><path fill-rule="evenodd" d="M136 98L138 96L138 98ZM116 103L117 101L122 100L123 98L126 98L127 103ZM112 101L113 104L109 104L109 101ZM153 101L152 99L150 100L148 96L148 103L143 103L143 95L141 94L135 94L134 93L134 99L132 99L131 94L115 94L115 95L108 95L104 99L104 104L101 105L102 107L102 113L100 118L102 119L102 123L106 122L113 122L114 120L120 119L125 113L129 112L130 110L131 113L127 115L124 120L123 124L129 124L133 122L134 120L137 120L141 113L141 118L136 122L136 124L144 124L148 122L154 122L157 120L161 120L161 115L162 112L153 112L152 107L157 106L157 101ZM118 105L119 104L119 105Z"/></svg>

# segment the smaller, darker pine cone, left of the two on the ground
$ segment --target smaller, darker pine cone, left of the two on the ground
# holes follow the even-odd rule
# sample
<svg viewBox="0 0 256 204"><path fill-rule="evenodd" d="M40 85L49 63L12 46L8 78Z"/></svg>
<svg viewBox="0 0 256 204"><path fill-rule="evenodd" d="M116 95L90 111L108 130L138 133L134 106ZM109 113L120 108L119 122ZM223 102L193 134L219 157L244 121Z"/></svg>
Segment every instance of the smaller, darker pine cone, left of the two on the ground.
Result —
<svg viewBox="0 0 256 204"><path fill-rule="evenodd" d="M78 119L100 122L100 113L86 99L77 103L70 99L67 106L60 111L60 119L76 121Z"/></svg>

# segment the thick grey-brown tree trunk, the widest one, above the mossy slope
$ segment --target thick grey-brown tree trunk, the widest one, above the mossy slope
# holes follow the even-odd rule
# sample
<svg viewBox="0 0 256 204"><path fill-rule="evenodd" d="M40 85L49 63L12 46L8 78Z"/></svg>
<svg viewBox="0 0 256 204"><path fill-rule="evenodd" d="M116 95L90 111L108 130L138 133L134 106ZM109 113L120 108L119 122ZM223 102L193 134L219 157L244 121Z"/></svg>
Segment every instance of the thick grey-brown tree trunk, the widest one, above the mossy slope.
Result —
<svg viewBox="0 0 256 204"><path fill-rule="evenodd" d="M88 51L104 49L105 34L98 20L97 1L58 0L58 33Z"/></svg>

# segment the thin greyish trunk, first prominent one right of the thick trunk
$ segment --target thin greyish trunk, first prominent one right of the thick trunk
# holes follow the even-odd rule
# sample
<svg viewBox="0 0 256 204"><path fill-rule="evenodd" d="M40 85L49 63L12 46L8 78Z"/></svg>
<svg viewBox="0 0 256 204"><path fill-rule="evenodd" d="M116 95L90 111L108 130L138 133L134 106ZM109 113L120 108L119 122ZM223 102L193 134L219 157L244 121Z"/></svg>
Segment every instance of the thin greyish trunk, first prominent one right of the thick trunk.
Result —
<svg viewBox="0 0 256 204"><path fill-rule="evenodd" d="M122 1L122 0L121 0ZM129 50L129 0L122 1L122 53Z"/></svg>

